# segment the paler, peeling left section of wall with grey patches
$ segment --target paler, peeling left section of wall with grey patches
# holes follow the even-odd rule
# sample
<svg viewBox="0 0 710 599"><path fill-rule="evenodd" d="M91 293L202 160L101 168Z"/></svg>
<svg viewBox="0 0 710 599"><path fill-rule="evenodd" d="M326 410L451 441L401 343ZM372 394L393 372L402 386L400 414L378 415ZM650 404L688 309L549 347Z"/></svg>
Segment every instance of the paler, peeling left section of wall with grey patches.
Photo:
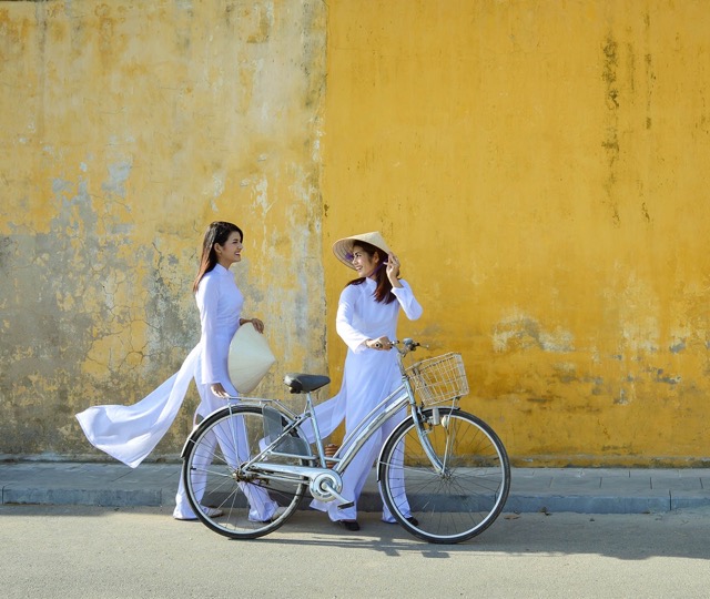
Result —
<svg viewBox="0 0 710 599"><path fill-rule="evenodd" d="M325 365L321 0L0 2L0 454L90 453L199 339L213 220L281 373ZM156 455L180 449L186 402Z"/></svg>

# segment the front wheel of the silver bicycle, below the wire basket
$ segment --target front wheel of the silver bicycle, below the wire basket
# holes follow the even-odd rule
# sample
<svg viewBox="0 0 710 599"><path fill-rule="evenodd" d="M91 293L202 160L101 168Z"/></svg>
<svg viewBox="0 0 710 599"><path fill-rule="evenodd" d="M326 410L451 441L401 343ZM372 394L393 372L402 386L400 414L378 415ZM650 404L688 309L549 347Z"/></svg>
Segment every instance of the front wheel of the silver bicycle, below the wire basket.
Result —
<svg viewBox="0 0 710 599"><path fill-rule="evenodd" d="M413 416L393 432L382 451L379 481L387 507L406 530L428 542L462 542L503 510L510 465L503 443L480 418L448 407L436 412L422 412L424 440Z"/></svg>

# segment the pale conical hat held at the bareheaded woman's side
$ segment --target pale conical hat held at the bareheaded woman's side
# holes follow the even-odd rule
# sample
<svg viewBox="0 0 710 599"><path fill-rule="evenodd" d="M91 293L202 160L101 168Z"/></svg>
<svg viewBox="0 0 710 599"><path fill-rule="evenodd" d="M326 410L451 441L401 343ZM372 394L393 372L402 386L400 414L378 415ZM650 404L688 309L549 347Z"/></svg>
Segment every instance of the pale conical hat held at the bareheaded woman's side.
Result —
<svg viewBox="0 0 710 599"><path fill-rule="evenodd" d="M275 362L266 337L252 323L244 323L236 329L230 344L227 369L240 394L255 389Z"/></svg>

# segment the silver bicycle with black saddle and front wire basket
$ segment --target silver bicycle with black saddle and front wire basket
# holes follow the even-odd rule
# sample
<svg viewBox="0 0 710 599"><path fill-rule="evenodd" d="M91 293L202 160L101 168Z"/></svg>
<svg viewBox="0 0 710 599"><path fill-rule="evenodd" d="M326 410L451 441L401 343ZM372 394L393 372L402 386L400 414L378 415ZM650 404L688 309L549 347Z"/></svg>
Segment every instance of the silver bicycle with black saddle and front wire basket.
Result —
<svg viewBox="0 0 710 599"><path fill-rule="evenodd" d="M341 474L385 422L402 418L376 463L384 501L397 522L435 544L462 542L483 532L510 490L508 455L490 426L458 407L468 393L462 356L449 353L405 367L404 356L418 346L413 339L395 342L399 387L332 456L325 455L312 396L331 382L327 376L284 377L291 393L305 395L302 414L277 399L243 397L207 416L182 451L183 480L200 520L220 535L253 539L280 528L306 490L322 501L338 501L341 508L352 506L341 495ZM268 520L254 521L247 497L265 491L278 509ZM209 516L201 505L222 514Z"/></svg>

